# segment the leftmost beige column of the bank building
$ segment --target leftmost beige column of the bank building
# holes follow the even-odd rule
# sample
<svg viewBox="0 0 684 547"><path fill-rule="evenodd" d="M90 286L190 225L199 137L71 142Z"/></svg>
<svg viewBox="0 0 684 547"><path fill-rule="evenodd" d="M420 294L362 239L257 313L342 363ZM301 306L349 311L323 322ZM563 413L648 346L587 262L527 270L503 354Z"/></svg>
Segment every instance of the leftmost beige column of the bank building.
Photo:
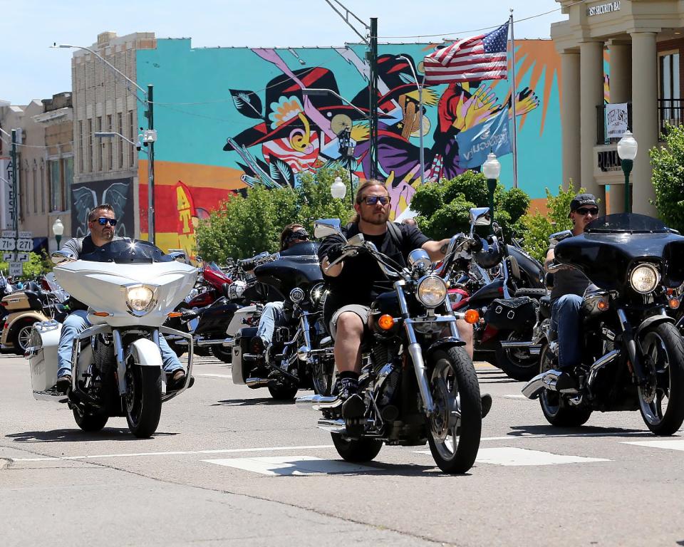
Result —
<svg viewBox="0 0 684 547"><path fill-rule="evenodd" d="M564 189L572 179L575 189L581 178L579 165L579 52L561 53L561 151Z"/></svg>

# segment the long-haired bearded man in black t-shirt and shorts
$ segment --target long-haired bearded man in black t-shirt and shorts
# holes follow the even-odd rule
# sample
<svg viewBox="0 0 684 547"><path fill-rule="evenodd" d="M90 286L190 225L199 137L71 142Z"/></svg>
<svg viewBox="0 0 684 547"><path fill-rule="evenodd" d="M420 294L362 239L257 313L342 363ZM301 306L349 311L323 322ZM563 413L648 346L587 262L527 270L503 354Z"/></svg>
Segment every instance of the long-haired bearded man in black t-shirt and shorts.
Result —
<svg viewBox="0 0 684 547"><path fill-rule="evenodd" d="M347 238L361 233L366 241L373 241L381 253L403 266L413 249L424 249L435 262L444 258L450 241L448 238L432 241L417 226L390 226L390 196L381 182L369 180L361 184L356 192L354 209L356 218L343 229ZM392 283L368 254L348 257L340 264L329 267L341 256L343 244L341 236L327 237L318 249L318 257L321 259L323 275L331 287L326 299L325 316L335 340L338 392L344 398L358 388L361 343L368 331L369 306L379 293L392 290ZM472 343L472 327L465 321L459 321L457 326L462 338ZM491 397L484 395L483 415L490 406Z"/></svg>

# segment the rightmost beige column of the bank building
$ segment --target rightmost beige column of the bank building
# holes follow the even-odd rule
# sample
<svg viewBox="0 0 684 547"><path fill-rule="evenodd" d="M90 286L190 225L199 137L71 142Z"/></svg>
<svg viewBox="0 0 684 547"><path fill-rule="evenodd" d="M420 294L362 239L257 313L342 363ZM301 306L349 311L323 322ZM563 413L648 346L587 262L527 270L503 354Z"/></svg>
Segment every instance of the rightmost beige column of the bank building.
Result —
<svg viewBox="0 0 684 547"><path fill-rule="evenodd" d="M630 185L632 212L656 215L648 150L658 144L658 59L654 32L632 33L632 125L638 153Z"/></svg>

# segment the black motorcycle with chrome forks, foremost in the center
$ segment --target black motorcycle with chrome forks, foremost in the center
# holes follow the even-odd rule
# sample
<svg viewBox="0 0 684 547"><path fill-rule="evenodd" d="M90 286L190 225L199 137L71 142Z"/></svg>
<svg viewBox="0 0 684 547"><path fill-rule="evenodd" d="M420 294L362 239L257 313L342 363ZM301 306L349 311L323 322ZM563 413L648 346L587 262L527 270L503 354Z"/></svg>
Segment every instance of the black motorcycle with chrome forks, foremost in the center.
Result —
<svg viewBox="0 0 684 547"><path fill-rule="evenodd" d="M315 223L316 237L341 234L338 219ZM430 444L437 465L447 473L465 473L477 457L482 430L480 386L472 360L459 338L445 279L452 262L469 254L474 240L454 236L447 256L434 269L423 249L401 268L357 234L346 241L342 256L369 253L378 261L394 290L371 305L373 332L364 356L358 395L346 401L312 395L297 400L323 411L318 426L331 432L333 444L348 462L375 458L383 446ZM477 313L470 318L476 321Z"/></svg>

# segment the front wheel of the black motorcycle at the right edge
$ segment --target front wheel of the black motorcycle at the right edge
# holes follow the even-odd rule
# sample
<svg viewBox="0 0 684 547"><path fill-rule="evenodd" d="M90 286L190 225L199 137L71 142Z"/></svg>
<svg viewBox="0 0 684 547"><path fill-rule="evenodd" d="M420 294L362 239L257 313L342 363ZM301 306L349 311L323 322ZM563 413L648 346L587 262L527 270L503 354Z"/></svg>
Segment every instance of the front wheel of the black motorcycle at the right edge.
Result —
<svg viewBox="0 0 684 547"><path fill-rule="evenodd" d="M668 406L663 412L660 397L656 392L653 402L648 403L643 399L641 388L638 390L641 417L648 429L656 435L666 436L675 434L684 423L684 340L675 325L660 323L653 328L648 328L641 337L641 347L645 353L655 350L655 358L666 358L667 365L660 365L660 373L668 374ZM663 355L663 351L665 355ZM653 357L653 353L651 353ZM658 370L659 363L655 363ZM664 377L659 377L662 389Z"/></svg>

